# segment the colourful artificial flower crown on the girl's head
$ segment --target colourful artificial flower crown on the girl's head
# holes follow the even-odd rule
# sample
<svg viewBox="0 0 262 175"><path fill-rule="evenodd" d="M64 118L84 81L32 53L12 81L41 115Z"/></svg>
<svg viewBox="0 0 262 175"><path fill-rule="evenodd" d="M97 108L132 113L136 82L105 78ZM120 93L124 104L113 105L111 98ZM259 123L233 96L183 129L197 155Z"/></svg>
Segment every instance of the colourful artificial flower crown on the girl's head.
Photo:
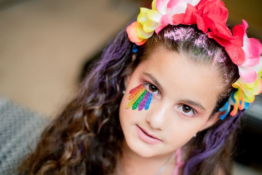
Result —
<svg viewBox="0 0 262 175"><path fill-rule="evenodd" d="M228 10L221 0L153 0L152 9L140 8L137 21L127 28L129 40L140 46L154 33L158 34L167 25L194 25L225 47L233 63L238 66L240 78L232 84L235 88L228 101L220 108L223 120L233 110L247 109L262 92L262 45L258 39L248 38L248 24L242 20L232 32L226 26ZM210 29L210 30L209 30Z"/></svg>

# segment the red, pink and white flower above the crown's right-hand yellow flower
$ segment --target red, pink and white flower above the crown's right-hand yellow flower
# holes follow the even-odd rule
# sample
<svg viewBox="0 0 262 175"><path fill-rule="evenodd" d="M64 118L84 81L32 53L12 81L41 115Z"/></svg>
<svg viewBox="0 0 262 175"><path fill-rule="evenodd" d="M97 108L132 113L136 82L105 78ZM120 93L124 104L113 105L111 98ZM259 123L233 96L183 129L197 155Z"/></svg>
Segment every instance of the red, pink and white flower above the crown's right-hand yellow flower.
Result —
<svg viewBox="0 0 262 175"><path fill-rule="evenodd" d="M232 40L221 38L213 32L209 32L208 37L215 39L221 46L225 47L232 62L238 65L239 75L245 83L253 83L260 70L259 61L262 45L258 39L247 37L247 27L248 24L245 20L242 21L241 25L236 25L232 31Z"/></svg>

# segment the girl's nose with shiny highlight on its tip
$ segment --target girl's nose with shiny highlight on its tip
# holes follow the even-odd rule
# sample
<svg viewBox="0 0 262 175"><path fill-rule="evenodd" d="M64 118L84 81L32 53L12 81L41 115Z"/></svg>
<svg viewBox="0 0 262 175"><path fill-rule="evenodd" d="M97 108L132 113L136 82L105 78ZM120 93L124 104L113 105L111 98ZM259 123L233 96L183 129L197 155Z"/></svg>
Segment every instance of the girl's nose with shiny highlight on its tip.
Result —
<svg viewBox="0 0 262 175"><path fill-rule="evenodd" d="M148 109L146 121L150 123L154 129L164 130L168 126L172 108L165 103L155 103Z"/></svg>

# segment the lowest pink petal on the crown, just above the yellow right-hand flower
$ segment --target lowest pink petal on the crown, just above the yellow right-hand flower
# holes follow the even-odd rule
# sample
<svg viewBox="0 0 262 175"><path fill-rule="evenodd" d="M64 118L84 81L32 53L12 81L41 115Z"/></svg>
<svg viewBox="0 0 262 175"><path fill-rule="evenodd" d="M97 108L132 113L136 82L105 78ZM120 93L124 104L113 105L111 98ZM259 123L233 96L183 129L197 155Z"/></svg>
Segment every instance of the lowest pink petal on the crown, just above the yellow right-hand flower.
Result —
<svg viewBox="0 0 262 175"><path fill-rule="evenodd" d="M239 75L245 81L245 83L253 83L257 78L257 73L253 68L238 66Z"/></svg>

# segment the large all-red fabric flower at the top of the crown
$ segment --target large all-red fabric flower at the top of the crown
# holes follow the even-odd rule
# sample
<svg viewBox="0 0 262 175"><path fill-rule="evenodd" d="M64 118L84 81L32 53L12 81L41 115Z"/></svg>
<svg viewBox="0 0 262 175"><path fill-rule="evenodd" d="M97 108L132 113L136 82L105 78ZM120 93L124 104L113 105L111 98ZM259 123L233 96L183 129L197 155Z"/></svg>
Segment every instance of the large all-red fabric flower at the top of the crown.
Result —
<svg viewBox="0 0 262 175"><path fill-rule="evenodd" d="M187 4L185 13L172 16L174 23L197 24L204 33L210 29L215 35L232 39L232 33L226 26L228 10L221 0L201 0L195 7Z"/></svg>

